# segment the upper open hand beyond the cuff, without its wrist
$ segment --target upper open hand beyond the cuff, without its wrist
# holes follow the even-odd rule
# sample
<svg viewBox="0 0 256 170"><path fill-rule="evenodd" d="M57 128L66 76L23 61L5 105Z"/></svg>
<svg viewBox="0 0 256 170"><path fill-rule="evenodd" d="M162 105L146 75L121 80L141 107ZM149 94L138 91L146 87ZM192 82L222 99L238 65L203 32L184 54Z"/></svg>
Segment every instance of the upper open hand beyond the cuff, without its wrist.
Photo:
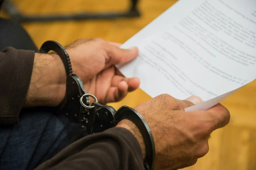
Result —
<svg viewBox="0 0 256 170"><path fill-rule="evenodd" d="M125 78L114 66L133 60L138 48L121 49L120 45L97 38L78 40L67 47L74 74L99 102L119 101L139 87L137 77Z"/></svg>

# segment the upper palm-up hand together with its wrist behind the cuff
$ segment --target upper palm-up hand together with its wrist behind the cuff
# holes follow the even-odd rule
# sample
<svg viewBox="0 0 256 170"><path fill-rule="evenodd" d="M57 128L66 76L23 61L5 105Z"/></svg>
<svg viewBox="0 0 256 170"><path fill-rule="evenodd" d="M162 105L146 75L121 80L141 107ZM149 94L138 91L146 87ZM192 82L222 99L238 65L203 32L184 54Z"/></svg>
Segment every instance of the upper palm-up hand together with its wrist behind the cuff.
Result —
<svg viewBox="0 0 256 170"><path fill-rule="evenodd" d="M119 48L121 44L102 39L81 39L68 45L73 68L84 83L88 93L99 102L116 102L139 87L139 79L125 78L114 67L131 61L138 55L138 48ZM57 54L35 54L30 86L25 107L58 106L66 91L66 73Z"/></svg>

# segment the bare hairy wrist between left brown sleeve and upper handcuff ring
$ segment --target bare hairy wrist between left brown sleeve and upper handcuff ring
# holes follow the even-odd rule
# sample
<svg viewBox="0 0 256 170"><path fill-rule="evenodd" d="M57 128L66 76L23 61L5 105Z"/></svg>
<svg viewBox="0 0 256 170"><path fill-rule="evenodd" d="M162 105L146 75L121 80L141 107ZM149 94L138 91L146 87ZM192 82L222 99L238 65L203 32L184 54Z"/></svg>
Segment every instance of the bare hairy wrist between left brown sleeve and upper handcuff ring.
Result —
<svg viewBox="0 0 256 170"><path fill-rule="evenodd" d="M66 74L57 54L35 53L24 107L58 106L65 96Z"/></svg>

